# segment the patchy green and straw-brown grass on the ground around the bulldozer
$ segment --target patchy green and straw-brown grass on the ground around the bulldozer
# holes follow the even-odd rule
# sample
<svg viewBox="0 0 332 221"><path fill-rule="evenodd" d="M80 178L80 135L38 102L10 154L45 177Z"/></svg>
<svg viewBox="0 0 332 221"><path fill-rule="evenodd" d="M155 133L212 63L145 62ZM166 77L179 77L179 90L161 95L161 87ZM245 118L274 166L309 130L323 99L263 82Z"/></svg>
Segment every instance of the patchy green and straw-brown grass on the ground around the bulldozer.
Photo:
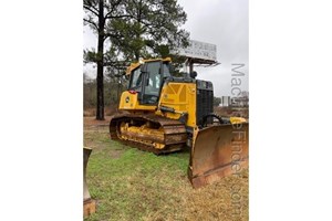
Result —
<svg viewBox="0 0 332 221"><path fill-rule="evenodd" d="M97 211L86 221L248 220L248 170L194 190L187 179L189 152L165 156L141 151L108 138L107 127L84 128L93 148L87 183ZM231 187L240 187L240 201ZM240 204L241 214L234 211Z"/></svg>

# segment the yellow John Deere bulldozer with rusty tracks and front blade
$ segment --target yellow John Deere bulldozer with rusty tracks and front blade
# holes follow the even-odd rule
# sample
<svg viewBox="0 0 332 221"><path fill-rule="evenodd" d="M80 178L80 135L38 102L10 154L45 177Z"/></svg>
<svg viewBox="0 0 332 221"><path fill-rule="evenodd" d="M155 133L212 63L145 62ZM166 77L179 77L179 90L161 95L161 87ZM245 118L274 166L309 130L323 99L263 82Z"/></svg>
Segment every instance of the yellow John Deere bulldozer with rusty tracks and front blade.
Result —
<svg viewBox="0 0 332 221"><path fill-rule="evenodd" d="M193 69L175 76L170 57L132 63L126 76L111 139L156 155L189 148L194 188L248 167L249 123L214 114L211 82L197 80Z"/></svg>

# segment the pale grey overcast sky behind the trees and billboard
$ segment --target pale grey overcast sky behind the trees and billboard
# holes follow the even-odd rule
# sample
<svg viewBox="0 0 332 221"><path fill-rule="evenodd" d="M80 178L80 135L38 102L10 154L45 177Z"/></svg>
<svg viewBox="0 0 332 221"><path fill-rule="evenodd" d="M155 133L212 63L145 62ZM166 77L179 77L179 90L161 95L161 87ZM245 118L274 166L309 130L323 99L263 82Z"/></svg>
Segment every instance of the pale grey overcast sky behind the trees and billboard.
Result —
<svg viewBox="0 0 332 221"><path fill-rule="evenodd" d="M214 83L215 96L231 95L232 64L242 63L245 73L240 88L248 91L248 0L178 0L187 13L183 27L190 32L190 39L217 45L215 67L196 67L197 78ZM84 48L96 48L96 36L84 28ZM84 71L95 76L96 69L86 65Z"/></svg>

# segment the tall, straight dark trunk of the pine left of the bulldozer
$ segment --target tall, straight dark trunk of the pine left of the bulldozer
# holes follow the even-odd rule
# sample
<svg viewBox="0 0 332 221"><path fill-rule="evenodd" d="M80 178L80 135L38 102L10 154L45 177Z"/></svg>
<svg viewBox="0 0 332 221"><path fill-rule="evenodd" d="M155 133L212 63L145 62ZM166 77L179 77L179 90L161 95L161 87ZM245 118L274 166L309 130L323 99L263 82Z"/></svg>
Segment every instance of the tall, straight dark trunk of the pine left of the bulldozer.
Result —
<svg viewBox="0 0 332 221"><path fill-rule="evenodd" d="M98 13L98 45L97 45L97 106L96 116L97 120L104 120L104 0L100 0Z"/></svg>

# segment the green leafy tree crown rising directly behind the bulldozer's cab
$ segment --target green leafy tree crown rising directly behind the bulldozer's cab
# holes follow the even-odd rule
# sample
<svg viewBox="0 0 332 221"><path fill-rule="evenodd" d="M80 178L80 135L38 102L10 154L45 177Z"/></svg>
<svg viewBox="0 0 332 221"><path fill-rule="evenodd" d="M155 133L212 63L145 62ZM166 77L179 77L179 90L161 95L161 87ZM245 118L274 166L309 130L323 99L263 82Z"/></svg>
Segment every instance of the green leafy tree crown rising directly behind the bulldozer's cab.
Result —
<svg viewBox="0 0 332 221"><path fill-rule="evenodd" d="M125 60L169 56L169 50L187 46L189 33L179 29L187 14L176 0L128 0L129 17L107 24L116 34L111 36L112 51L122 52Z"/></svg>

